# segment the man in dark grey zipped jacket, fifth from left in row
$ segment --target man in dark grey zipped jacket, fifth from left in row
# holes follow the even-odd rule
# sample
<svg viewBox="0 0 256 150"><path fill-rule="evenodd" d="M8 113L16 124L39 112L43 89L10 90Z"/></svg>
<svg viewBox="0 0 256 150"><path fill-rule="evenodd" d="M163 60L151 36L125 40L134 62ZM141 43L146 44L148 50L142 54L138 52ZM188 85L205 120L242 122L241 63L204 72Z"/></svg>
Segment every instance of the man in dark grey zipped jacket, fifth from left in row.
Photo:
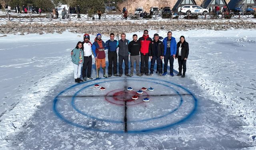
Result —
<svg viewBox="0 0 256 150"><path fill-rule="evenodd" d="M130 76L129 75L129 50L128 50L128 44L129 44L129 40L126 39L126 34L122 33L121 34L121 40L118 41L118 69L119 69L119 76L122 76L123 74L123 61L124 61L124 74L126 76Z"/></svg>

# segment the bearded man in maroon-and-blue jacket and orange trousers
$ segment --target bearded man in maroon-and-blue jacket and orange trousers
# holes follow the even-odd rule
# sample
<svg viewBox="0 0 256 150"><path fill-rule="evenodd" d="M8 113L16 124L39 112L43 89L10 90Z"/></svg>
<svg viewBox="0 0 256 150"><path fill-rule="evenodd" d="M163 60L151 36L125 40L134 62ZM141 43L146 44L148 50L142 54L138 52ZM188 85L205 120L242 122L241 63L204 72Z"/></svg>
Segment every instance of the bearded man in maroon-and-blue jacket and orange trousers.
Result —
<svg viewBox="0 0 256 150"><path fill-rule="evenodd" d="M103 70L103 76L105 78L108 78L106 74L106 54L105 54L104 46L105 46L105 42L101 40L101 34L98 33L92 44L92 52L95 57L95 61L97 65L96 70L98 73L98 76L96 78L99 78L100 65Z"/></svg>

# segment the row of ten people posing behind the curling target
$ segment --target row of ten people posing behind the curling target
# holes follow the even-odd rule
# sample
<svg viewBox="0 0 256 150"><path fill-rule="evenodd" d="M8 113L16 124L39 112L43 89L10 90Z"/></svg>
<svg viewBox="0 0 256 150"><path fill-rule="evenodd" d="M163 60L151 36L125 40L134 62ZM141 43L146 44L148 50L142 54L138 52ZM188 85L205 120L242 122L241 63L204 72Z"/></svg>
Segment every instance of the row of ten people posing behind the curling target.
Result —
<svg viewBox="0 0 256 150"><path fill-rule="evenodd" d="M125 76L134 76L134 63L136 64L137 76L143 76L144 74L146 76L153 76L155 63L157 64L156 72L158 75L166 76L168 62L170 63L170 76L174 76L173 64L174 59L177 58L179 64L179 73L177 76L185 77L189 46L184 36L181 36L180 41L176 43L176 39L172 37L172 32L169 31L167 37L164 38L162 42L159 40L158 34L154 34L152 40L148 35L148 30L144 30L143 36L139 39L138 36L134 34L131 42L126 39L125 33L121 34L120 40L115 40L114 38L114 33L111 33L110 39L104 42L102 41L102 35L97 34L94 42L91 43L90 35L84 34L84 41L78 42L76 48L71 52L75 82L80 83L87 79L93 79L91 77L92 55L94 55L96 61L96 78L99 78L100 66L105 78L111 77L112 75L122 76L123 73ZM106 74L105 50L108 50L108 74ZM130 74L128 67L129 55ZM151 59L150 69L148 68L149 58ZM162 67L163 59L164 68ZM125 65L124 71L122 68L123 62Z"/></svg>

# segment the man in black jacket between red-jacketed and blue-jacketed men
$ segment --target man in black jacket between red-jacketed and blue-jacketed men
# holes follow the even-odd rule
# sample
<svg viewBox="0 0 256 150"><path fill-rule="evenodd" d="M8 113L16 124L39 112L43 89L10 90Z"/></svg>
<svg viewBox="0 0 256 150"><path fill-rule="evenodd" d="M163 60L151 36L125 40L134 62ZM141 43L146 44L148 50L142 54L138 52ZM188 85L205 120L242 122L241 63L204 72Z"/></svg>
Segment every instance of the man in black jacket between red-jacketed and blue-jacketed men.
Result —
<svg viewBox="0 0 256 150"><path fill-rule="evenodd" d="M159 35L154 34L154 40L149 45L148 55L149 58L151 59L150 76L152 76L154 73L155 63L158 66L159 76L162 76L161 60L164 58L164 44L162 41L158 39Z"/></svg>

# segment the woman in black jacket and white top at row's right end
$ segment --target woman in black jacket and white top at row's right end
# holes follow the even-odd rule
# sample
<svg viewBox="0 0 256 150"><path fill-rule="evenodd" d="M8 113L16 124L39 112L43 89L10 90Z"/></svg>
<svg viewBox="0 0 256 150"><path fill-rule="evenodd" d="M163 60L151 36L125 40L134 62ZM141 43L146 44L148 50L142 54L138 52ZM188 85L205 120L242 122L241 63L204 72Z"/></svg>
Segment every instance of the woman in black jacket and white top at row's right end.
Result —
<svg viewBox="0 0 256 150"><path fill-rule="evenodd" d="M178 58L178 63L179 63L179 73L177 76L181 76L182 78L185 78L186 74L186 62L188 59L188 42L186 42L184 36L180 36L180 42L177 43L177 52L175 59ZM183 66L183 74L182 74L182 66Z"/></svg>

